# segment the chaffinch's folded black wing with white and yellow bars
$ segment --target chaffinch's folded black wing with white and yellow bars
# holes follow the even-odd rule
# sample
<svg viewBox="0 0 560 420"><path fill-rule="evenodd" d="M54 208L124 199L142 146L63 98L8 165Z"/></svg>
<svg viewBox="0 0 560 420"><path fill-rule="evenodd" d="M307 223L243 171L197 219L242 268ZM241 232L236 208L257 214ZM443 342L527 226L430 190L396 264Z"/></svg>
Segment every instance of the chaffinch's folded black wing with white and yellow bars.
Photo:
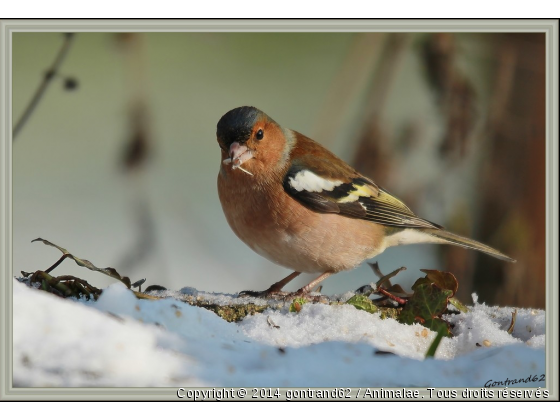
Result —
<svg viewBox="0 0 560 420"><path fill-rule="evenodd" d="M284 190L311 210L338 213L385 226L432 228L441 226L416 216L402 201L363 177L342 161L326 166L316 156L292 162Z"/></svg>

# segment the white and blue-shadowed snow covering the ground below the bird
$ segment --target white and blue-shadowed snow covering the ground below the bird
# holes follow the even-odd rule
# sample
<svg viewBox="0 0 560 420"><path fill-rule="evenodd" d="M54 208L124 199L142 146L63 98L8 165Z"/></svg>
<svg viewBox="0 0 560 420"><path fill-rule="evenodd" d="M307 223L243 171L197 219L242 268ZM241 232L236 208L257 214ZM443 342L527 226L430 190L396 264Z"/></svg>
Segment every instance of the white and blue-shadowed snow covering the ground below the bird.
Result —
<svg viewBox="0 0 560 420"><path fill-rule="evenodd" d="M13 287L16 387L483 388L529 376L536 381L508 386L545 386L541 310L518 309L508 334L513 308L475 302L449 319L455 336L425 359L434 332L350 305L290 313L286 304L228 323L173 297L138 300L120 283L97 302Z"/></svg>

